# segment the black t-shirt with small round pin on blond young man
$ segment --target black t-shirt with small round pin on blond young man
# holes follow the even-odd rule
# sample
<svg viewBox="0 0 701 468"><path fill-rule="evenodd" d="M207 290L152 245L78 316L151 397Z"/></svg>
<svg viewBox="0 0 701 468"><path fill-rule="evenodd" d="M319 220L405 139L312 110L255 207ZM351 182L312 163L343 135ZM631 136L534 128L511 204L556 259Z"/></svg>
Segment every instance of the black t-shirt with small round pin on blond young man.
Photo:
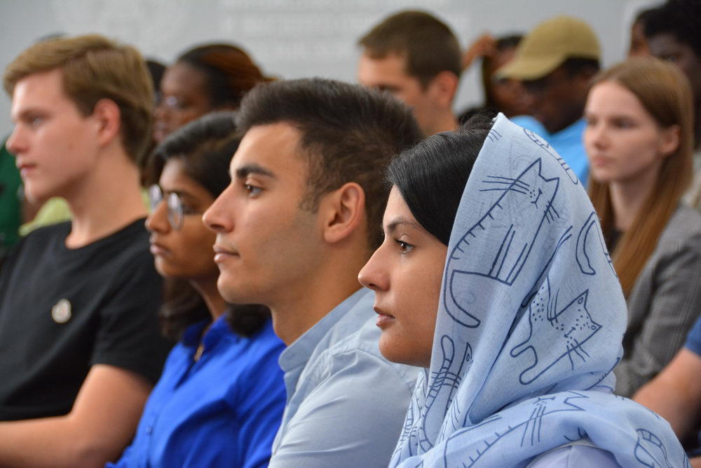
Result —
<svg viewBox="0 0 701 468"><path fill-rule="evenodd" d="M76 249L70 230L32 232L0 272L0 420L69 413L93 364L161 374L170 342L144 220Z"/></svg>

